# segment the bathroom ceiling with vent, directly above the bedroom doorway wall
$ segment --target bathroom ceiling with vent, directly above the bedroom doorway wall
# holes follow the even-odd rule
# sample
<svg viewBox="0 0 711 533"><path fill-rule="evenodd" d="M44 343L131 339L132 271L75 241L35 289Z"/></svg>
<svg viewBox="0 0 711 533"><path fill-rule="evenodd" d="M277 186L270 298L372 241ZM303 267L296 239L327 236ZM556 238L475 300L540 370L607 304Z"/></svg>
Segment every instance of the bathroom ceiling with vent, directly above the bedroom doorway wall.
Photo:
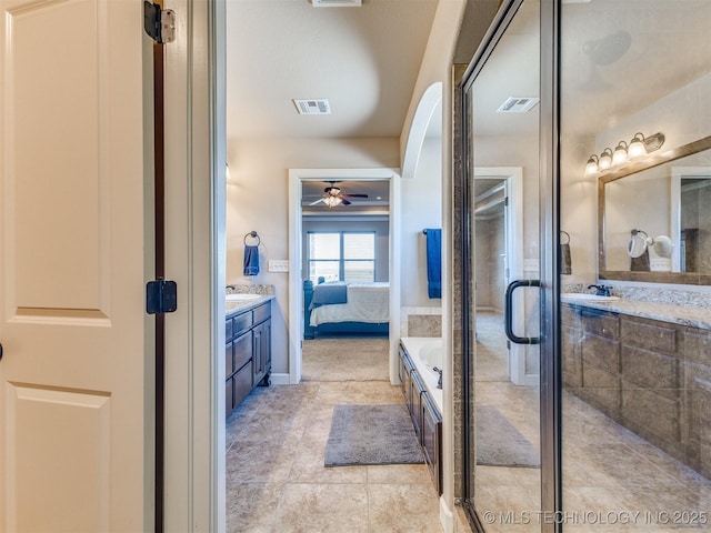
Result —
<svg viewBox="0 0 711 533"><path fill-rule="evenodd" d="M399 138L438 0L227 0L228 141ZM292 99L328 99L300 115Z"/></svg>

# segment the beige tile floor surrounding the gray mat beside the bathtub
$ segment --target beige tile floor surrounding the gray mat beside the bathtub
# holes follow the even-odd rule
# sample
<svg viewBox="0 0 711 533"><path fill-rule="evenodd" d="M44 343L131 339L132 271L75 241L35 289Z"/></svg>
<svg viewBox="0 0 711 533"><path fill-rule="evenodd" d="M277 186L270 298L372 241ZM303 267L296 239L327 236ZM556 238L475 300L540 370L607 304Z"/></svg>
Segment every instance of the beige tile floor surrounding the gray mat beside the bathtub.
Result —
<svg viewBox="0 0 711 533"><path fill-rule="evenodd" d="M323 466L333 405L404 403L388 381L257 388L227 422L228 532L440 533L422 465Z"/></svg>

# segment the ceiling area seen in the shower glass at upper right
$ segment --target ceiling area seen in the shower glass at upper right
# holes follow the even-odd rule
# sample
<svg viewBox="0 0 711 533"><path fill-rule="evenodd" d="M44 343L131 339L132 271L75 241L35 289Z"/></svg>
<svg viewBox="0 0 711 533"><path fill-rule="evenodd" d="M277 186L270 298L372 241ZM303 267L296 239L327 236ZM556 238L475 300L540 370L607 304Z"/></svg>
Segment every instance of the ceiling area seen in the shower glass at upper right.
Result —
<svg viewBox="0 0 711 533"><path fill-rule="evenodd" d="M711 72L709 0L563 0L561 98L567 131L603 131ZM538 97L538 1L523 3L474 84L477 134L533 134L533 112L502 114L508 97ZM650 132L651 133L651 132Z"/></svg>

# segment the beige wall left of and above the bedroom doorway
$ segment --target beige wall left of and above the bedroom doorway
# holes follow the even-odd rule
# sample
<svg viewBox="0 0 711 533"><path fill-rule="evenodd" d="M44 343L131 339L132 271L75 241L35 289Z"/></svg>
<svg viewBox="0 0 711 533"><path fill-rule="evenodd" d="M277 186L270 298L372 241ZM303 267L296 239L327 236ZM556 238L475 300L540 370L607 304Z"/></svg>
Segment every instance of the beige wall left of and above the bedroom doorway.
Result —
<svg viewBox="0 0 711 533"><path fill-rule="evenodd" d="M289 372L289 274L267 271L270 259L289 259L290 168L398 168L398 139L228 140L227 283L242 275L243 238L261 239L260 273L253 283L273 284L272 372Z"/></svg>

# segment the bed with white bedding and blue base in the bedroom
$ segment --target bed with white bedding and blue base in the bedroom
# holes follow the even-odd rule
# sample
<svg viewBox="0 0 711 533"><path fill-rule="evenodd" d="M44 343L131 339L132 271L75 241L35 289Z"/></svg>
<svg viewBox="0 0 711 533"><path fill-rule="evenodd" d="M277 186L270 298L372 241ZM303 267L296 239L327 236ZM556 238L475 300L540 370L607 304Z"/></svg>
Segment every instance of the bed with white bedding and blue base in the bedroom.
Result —
<svg viewBox="0 0 711 533"><path fill-rule="evenodd" d="M390 284L303 282L304 339L318 334L370 333L387 336Z"/></svg>

